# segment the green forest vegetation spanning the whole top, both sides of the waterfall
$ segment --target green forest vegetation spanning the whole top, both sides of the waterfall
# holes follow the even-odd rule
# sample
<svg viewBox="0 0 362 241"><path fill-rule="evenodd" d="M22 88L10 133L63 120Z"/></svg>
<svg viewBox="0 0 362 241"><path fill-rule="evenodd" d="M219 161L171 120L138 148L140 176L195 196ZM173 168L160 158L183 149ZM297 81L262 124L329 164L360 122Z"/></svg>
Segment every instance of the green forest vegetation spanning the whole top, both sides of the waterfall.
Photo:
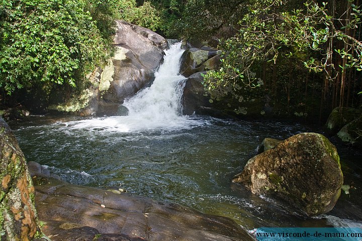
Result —
<svg viewBox="0 0 362 241"><path fill-rule="evenodd" d="M84 88L112 56L114 20L122 19L167 38L219 40L220 69L204 81L212 99L270 98L290 115L320 117L359 108L361 11L359 0L3 1L1 107Z"/></svg>

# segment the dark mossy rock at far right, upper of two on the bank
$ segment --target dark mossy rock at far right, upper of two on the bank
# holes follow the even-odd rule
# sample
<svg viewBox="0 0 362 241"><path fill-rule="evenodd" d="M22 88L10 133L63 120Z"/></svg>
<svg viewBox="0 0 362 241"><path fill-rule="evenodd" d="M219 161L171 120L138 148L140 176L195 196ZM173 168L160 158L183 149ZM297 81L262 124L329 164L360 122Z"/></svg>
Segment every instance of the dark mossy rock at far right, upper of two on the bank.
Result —
<svg viewBox="0 0 362 241"><path fill-rule="evenodd" d="M354 108L336 107L329 114L325 127L331 135L335 135L343 126L358 118L361 111Z"/></svg>

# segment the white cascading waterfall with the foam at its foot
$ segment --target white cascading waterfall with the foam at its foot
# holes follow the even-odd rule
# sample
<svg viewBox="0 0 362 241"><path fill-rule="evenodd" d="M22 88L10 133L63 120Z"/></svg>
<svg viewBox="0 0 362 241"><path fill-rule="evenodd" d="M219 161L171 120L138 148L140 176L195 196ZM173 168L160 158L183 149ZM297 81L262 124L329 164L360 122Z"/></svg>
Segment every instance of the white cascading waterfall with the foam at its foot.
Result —
<svg viewBox="0 0 362 241"><path fill-rule="evenodd" d="M67 123L67 126L71 129L101 127L109 131L134 132L192 128L201 124L200 120L182 115L181 100L186 78L178 72L183 52L181 43L171 45L165 51L164 61L155 73L152 85L125 100L123 105L129 110L127 116L86 119Z"/></svg>

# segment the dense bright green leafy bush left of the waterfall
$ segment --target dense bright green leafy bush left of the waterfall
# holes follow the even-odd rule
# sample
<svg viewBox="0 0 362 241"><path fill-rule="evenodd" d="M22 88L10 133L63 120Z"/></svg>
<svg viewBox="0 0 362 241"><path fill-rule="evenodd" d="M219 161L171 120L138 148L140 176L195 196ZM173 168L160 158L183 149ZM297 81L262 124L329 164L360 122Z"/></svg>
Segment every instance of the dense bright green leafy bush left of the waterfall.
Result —
<svg viewBox="0 0 362 241"><path fill-rule="evenodd" d="M75 86L107 59L109 33L97 28L86 7L89 4L83 1L3 1L0 87L11 94L22 87ZM93 16L103 19L102 11L92 10Z"/></svg>

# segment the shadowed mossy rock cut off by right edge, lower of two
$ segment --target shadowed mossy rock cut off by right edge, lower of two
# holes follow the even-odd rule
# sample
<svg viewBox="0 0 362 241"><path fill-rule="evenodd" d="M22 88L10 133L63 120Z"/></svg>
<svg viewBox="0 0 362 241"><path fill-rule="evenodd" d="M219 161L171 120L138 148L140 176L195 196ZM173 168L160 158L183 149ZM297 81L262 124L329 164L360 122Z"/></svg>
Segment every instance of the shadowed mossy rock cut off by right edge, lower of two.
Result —
<svg viewBox="0 0 362 241"><path fill-rule="evenodd" d="M337 137L344 143L362 148L362 115L342 127Z"/></svg>

